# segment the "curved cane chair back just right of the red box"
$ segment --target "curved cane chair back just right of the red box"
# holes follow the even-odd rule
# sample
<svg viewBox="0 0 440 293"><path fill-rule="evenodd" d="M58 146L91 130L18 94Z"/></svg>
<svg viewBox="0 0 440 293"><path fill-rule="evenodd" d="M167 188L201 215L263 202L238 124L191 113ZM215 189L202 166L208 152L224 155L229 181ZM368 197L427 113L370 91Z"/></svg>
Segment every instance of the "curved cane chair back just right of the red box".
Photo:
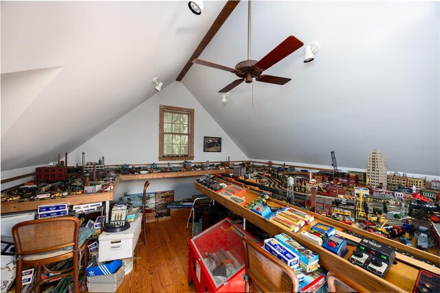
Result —
<svg viewBox="0 0 440 293"><path fill-rule="evenodd" d="M245 292L298 292L298 277L286 263L243 237Z"/></svg>

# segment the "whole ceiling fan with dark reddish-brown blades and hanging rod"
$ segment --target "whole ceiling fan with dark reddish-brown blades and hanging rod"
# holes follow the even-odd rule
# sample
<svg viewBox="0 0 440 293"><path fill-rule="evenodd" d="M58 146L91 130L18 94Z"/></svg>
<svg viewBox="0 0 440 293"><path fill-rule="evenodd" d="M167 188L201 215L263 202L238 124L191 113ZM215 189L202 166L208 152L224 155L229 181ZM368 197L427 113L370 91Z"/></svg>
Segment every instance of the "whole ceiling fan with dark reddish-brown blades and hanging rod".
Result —
<svg viewBox="0 0 440 293"><path fill-rule="evenodd" d="M291 80L291 78L281 78L279 76L274 75L266 75L262 74L263 71L272 67L277 62L283 60L283 58L289 56L294 51L299 49L304 45L303 42L295 38L294 36L288 36L280 45L276 46L272 51L270 51L266 56L261 58L261 60L251 60L250 59L250 0L248 1L248 60L240 61L235 68L226 67L223 65L219 65L216 63L212 63L206 60L201 60L196 58L192 60L192 63L205 65L208 67L221 69L225 71L229 71L235 73L239 77L238 80L234 80L223 89L219 91L219 93L227 93L228 91L234 89L234 87L241 84L241 82L250 83L252 79L255 78L257 82L267 82L270 84L286 84Z"/></svg>

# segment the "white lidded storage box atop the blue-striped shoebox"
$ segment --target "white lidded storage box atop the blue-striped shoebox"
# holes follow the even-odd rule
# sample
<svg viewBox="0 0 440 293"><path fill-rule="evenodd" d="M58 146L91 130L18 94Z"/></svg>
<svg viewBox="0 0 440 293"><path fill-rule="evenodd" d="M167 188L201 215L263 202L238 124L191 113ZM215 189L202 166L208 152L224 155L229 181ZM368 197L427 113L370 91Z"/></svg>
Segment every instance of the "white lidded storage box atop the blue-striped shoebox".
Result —
<svg viewBox="0 0 440 293"><path fill-rule="evenodd" d="M137 215L137 219L130 222L130 228L122 232L109 233L102 232L99 235L99 254L98 261L112 261L114 259L124 259L133 257L137 239L139 239L142 223L142 214Z"/></svg>

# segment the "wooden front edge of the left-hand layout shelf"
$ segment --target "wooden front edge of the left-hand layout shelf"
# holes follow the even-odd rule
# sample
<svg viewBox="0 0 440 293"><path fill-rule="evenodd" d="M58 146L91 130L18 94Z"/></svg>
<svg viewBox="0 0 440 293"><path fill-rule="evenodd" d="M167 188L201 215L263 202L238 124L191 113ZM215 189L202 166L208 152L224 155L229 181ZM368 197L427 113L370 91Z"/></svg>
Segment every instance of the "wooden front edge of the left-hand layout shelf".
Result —
<svg viewBox="0 0 440 293"><path fill-rule="evenodd" d="M16 211L36 210L39 205L56 204L60 202L69 202L72 204L88 204L91 202L105 202L113 200L113 192L99 192L97 194L80 194L76 196L66 196L65 198L46 198L45 200L34 200L19 202L17 200L10 202L1 202L1 213L13 213Z"/></svg>

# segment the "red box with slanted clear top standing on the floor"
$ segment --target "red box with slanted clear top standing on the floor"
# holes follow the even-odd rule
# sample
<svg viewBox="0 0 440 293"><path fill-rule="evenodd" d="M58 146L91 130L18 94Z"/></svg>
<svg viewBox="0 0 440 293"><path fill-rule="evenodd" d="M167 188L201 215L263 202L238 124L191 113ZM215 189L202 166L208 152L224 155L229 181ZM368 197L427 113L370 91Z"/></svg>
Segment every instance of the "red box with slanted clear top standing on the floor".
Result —
<svg viewBox="0 0 440 293"><path fill-rule="evenodd" d="M244 292L243 236L254 238L225 218L190 239L188 284L197 292Z"/></svg>

